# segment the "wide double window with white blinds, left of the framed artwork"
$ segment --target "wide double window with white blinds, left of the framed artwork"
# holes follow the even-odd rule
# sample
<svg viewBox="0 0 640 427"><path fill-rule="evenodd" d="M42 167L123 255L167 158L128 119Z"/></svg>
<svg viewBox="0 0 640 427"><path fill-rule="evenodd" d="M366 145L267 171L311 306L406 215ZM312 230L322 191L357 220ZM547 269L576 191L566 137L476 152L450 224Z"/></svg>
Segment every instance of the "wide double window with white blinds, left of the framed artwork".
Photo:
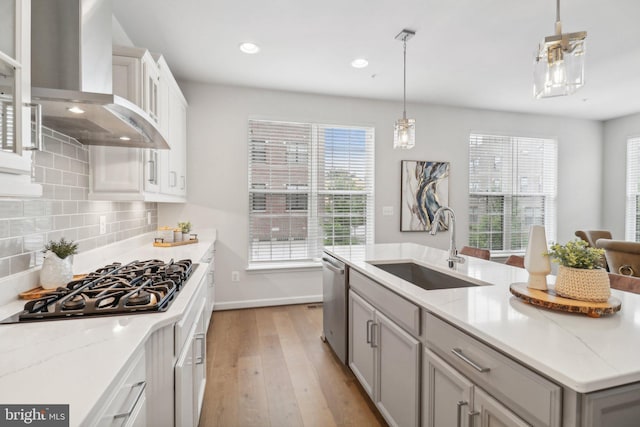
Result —
<svg viewBox="0 0 640 427"><path fill-rule="evenodd" d="M273 128L269 126L273 125ZM292 128L293 130L297 129L300 132L306 133L304 126L310 127L309 132L309 141L307 143L300 143L299 140L292 137L291 140L286 139L286 137L282 137L282 139L278 138L263 138L262 135L258 135L258 133L263 132L265 134L269 134L270 132L274 132L274 135L278 134L278 131L282 131L283 135L287 135L286 126L292 125L297 126L297 128ZM265 126L264 129L261 129L260 126ZM285 129L279 129L278 126L284 126ZM286 121L274 121L274 120L264 120L264 119L249 119L248 121L248 143L249 143L249 177L248 177L248 193L249 193L249 213L248 213L248 269L249 270L260 270L260 269L270 269L270 268L297 268L297 266L307 267L310 264L320 265L319 260L322 254L322 249L325 246L324 234L327 230L325 230L325 222L326 221L326 212L323 210L324 205L323 197L326 195L334 195L334 194L342 194L342 193L358 193L362 194L365 203L362 211L364 212L361 221L364 225L365 233L364 237L361 236L361 232L359 230L359 226L351 226L347 228L347 232L350 234L348 239L352 238L361 238L363 239L363 244L370 244L374 242L374 228L375 228L375 219L374 219L374 155L375 155L375 128L372 126L360 126L360 125L333 125L333 124L323 124L323 123L300 123L300 122L286 122ZM257 131L254 133L253 130ZM266 130L265 130L266 129ZM302 129L302 130L300 130ZM291 129L290 129L291 130ZM358 132L362 133L362 140L358 139ZM342 140L340 135L341 132L345 132L349 137L346 140ZM354 133L352 133L354 132ZM335 135L334 135L335 134ZM299 134L296 134L297 137L300 137ZM337 136L336 136L337 135ZM350 139L350 138L355 139ZM263 143L264 150L256 150L254 147L256 144ZM363 148L360 151L359 144L363 144ZM269 147L269 144L273 144L273 147L280 146L283 144L286 145L283 149L278 149L279 154L276 154L274 158L271 158L274 154L274 151ZM330 151L327 151L330 150ZM337 150L337 151L336 151ZM347 166L341 164L340 162L334 164L333 157L327 156L335 156L340 159L341 155L339 151L346 150L348 153L352 153L353 150L361 156L353 156L353 159L349 157L347 162ZM258 153L259 155L257 155ZM336 154L337 153L337 154ZM261 160L264 159L264 162ZM329 160L331 159L331 160ZM279 163L271 164L270 162L282 162L282 165ZM354 166L354 163L355 166ZM364 166L360 163L364 162ZM253 167L259 164L258 169L254 169ZM275 165L275 166L274 166ZM305 166L307 165L307 166ZM273 171L273 168L281 167L281 169L277 170L275 173L280 174L277 178L271 178L270 173ZM305 170L308 167L308 177L306 182L303 180L299 180L298 176L295 175L295 172L291 172L292 170L298 170L301 168ZM341 172L347 171L347 174L352 173L352 169L355 167L355 172L353 173L363 173L366 176L367 184L366 188L362 191L339 191L339 190L330 190L324 189L326 185L326 176L327 171L338 170ZM284 172L283 172L284 171ZM290 171L287 173L286 171ZM252 183L252 179L259 179L256 177L252 177L252 173L261 174L261 176L267 176L266 184L264 184L264 189L256 190L254 183ZM304 172L303 172L304 173ZM284 177L283 175L284 174ZM286 177L289 177L287 179ZM291 180L291 178L294 178ZM353 178L355 179L355 178ZM274 181L276 180L276 181ZM277 185L276 185L277 182ZM274 186L276 188L270 188L270 186ZM265 202L266 209L255 210L253 196L256 194L263 193L267 200ZM272 197L280 197L279 201L274 203L273 206L270 205L269 202L269 194ZM298 202L302 202L302 198L306 198L306 206L302 209L302 204ZM296 199L300 199L296 201ZM272 200L276 200L275 198ZM362 203L359 199L355 199L358 203L358 206L361 206ZM277 205L277 206L276 206ZM299 209L297 207L300 207ZM274 210L271 210L271 209ZM254 213L258 215L253 215ZM265 214L261 216L260 214ZM290 215L290 216L289 216ZM268 219L268 218L272 219ZM274 242L279 241L278 238L280 233L280 228L271 228L269 227L277 227L278 221L285 221L285 218L289 217L293 220L288 223L287 227L283 231L283 235L289 235L290 248L288 255L292 258L283 259L282 254L287 254L287 249L284 249L281 253L278 252L277 246ZM297 218L297 220L295 219ZM296 253L303 253L303 249L299 249L293 245L300 243L300 239L294 239L293 231L294 227L298 226L294 221L304 221L306 219L306 226L302 225L301 230L306 231L306 237L302 240L306 244L306 257L298 258L295 256ZM347 220L349 221L349 220ZM334 222L335 224L335 219ZM261 231L259 227L265 227ZM271 225L269 225L271 224ZM350 224L350 223L349 223ZM256 228L258 227L258 228ZM360 228L362 228L360 227ZM332 235L331 241L337 241L336 238L336 230L339 228L331 227L330 234ZM342 228L344 230L344 226ZM275 230L275 231L274 231ZM295 234L295 233L294 233ZM269 240L268 236L272 236ZM254 238L254 236L256 236ZM355 236L355 237L353 237ZM293 236L295 237L295 236ZM259 240L257 240L259 239ZM265 240L266 239L266 240ZM350 240L351 241L351 240ZM264 242L262 245L260 242ZM296 243L297 242L297 243ZM275 247L274 247L275 245ZM286 244L285 244L286 246ZM263 259L261 259L263 258Z"/></svg>

